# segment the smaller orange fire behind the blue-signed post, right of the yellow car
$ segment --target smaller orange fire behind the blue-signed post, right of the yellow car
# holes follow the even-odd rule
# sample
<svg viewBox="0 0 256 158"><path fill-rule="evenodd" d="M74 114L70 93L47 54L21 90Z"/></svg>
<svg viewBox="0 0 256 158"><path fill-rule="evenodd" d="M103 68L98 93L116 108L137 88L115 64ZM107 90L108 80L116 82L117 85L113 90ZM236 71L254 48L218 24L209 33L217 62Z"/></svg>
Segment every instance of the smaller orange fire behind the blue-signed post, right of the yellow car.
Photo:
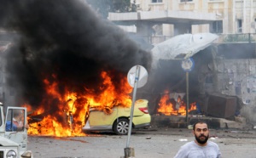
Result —
<svg viewBox="0 0 256 158"><path fill-rule="evenodd" d="M161 96L159 102L158 113L165 116L185 116L186 115L186 103L183 102L182 97L178 96L177 100L172 102L170 99L170 94L166 90L165 93ZM189 111L196 110L195 102L189 104Z"/></svg>

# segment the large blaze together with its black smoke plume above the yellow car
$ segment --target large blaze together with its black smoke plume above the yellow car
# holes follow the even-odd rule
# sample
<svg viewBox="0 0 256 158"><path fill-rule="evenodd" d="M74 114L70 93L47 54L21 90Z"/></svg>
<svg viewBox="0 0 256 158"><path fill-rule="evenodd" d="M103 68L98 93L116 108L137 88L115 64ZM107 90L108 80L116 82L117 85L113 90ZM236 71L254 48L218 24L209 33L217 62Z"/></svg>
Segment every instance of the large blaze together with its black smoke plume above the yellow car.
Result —
<svg viewBox="0 0 256 158"><path fill-rule="evenodd" d="M31 108L28 133L80 135L89 107L131 105L126 73L151 54L79 0L1 2L0 25L19 36L5 54L15 104Z"/></svg>

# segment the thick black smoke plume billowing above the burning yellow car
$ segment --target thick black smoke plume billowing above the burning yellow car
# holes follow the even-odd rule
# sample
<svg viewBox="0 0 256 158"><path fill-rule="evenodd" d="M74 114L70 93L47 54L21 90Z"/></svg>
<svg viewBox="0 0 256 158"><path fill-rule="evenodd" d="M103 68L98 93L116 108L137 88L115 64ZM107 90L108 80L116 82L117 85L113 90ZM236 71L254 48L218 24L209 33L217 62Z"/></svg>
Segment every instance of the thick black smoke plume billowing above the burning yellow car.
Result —
<svg viewBox="0 0 256 158"><path fill-rule="evenodd" d="M8 82L17 103L40 104L44 78L84 92L102 82L107 71L117 87L134 65L149 69L151 54L138 48L124 31L98 18L79 0L0 0L0 25L17 36L6 55ZM117 74L123 74L117 75ZM86 93L86 92L84 92Z"/></svg>

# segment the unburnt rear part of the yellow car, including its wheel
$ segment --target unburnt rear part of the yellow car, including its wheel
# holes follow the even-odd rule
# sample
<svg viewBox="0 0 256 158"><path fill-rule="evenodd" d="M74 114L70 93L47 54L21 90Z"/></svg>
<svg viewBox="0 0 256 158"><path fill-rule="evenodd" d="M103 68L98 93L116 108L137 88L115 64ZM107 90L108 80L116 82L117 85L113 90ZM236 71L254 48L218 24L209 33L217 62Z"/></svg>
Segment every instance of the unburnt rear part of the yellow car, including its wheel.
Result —
<svg viewBox="0 0 256 158"><path fill-rule="evenodd" d="M83 127L84 132L113 131L118 135L126 135L129 130L131 107L121 106L111 109L111 113L92 109ZM138 99L134 104L132 128L148 127L151 116L148 114L148 100Z"/></svg>

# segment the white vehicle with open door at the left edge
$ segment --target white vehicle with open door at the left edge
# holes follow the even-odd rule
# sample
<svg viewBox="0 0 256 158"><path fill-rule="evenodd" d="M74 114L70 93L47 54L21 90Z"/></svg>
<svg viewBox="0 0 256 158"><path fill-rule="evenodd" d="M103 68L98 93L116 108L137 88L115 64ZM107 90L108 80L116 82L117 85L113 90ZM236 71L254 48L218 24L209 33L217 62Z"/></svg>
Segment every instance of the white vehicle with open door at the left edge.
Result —
<svg viewBox="0 0 256 158"><path fill-rule="evenodd" d="M20 112L19 125L15 125L15 113ZM32 158L32 151L27 148L26 108L8 107L3 113L0 103L0 158Z"/></svg>

